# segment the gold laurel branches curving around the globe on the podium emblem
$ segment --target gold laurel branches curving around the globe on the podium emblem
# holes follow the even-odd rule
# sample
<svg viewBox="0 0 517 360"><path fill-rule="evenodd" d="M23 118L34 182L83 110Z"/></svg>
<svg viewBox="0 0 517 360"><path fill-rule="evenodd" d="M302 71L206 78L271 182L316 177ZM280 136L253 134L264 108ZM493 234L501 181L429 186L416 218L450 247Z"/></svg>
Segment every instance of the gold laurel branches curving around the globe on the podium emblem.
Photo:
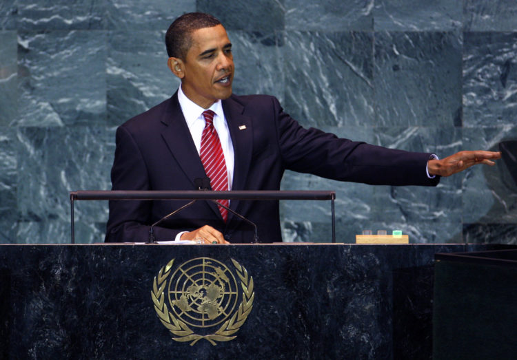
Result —
<svg viewBox="0 0 517 360"><path fill-rule="evenodd" d="M167 285L166 280L170 274L174 259L160 269L158 276L154 277L154 281L152 283L151 298L154 302L154 310L156 311L156 315L158 315L161 324L176 336L172 338L173 340L181 342L192 341L190 346L193 346L194 343L201 339L210 341L212 345L217 345L216 341L230 341L236 338L236 336L231 335L239 331L246 321L247 316L250 315L253 308L255 293L253 291L253 277L247 276L246 269L244 266L241 266L239 262L236 262L233 259L232 262L239 279L241 279L243 301L234 315L232 315L230 319L227 319L219 330L210 335L194 334L194 331L192 331L185 322L181 321L181 319L176 319L176 317L170 313L167 304L165 304L164 292Z"/></svg>

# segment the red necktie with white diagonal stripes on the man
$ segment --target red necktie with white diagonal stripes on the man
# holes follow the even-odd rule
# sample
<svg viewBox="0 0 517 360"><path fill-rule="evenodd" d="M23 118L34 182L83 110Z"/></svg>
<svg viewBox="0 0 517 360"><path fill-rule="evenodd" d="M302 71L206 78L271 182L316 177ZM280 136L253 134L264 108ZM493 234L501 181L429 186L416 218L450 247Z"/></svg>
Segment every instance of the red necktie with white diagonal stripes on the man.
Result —
<svg viewBox="0 0 517 360"><path fill-rule="evenodd" d="M210 178L212 190L225 191L228 189L228 175L226 172L223 147L221 147L221 141L214 127L214 115L215 113L212 112L212 110L203 112L205 128L201 135L201 151L199 157L201 158L201 162L203 162L203 167L205 167L206 175ZM227 199L217 200L217 202L223 204L225 207L230 204L230 201ZM223 207L219 207L219 211L221 211L221 216L226 222L228 211Z"/></svg>

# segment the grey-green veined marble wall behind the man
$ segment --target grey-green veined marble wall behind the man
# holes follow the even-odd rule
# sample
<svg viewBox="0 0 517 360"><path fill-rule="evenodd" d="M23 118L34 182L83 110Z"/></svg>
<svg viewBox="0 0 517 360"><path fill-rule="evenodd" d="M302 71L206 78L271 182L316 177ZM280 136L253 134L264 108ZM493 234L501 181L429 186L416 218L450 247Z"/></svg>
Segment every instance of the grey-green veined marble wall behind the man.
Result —
<svg viewBox="0 0 517 360"><path fill-rule="evenodd" d="M194 10L228 30L234 92L275 95L303 125L441 157L517 138L513 0L1 0L1 243L69 242L68 192L110 189L114 130L174 92L163 35ZM402 229L412 242L516 243L502 161L437 189L292 172L283 189L335 189L343 242ZM281 207L285 241L330 239L330 204ZM105 202L75 215L78 242L102 241Z"/></svg>

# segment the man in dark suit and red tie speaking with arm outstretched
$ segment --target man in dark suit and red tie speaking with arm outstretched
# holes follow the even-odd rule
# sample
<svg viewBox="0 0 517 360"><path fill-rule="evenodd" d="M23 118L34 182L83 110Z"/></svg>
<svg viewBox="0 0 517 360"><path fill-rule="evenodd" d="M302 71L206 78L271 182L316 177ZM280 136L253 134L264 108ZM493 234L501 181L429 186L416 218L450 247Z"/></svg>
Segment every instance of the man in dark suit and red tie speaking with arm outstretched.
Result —
<svg viewBox="0 0 517 360"><path fill-rule="evenodd" d="M493 165L489 159L500 157L462 151L438 160L430 153L354 142L301 127L272 96L233 95L232 44L210 15L179 17L165 42L168 66L181 78L181 87L117 129L114 190L195 190L196 179L206 177L214 190L278 190L285 169L366 184L434 186L440 176L478 163ZM145 241L150 224L183 204L112 201L105 241ZM257 224L262 242L282 241L277 201L232 200L229 206ZM203 201L156 226L154 233L157 240L202 244L253 240L250 224Z"/></svg>

